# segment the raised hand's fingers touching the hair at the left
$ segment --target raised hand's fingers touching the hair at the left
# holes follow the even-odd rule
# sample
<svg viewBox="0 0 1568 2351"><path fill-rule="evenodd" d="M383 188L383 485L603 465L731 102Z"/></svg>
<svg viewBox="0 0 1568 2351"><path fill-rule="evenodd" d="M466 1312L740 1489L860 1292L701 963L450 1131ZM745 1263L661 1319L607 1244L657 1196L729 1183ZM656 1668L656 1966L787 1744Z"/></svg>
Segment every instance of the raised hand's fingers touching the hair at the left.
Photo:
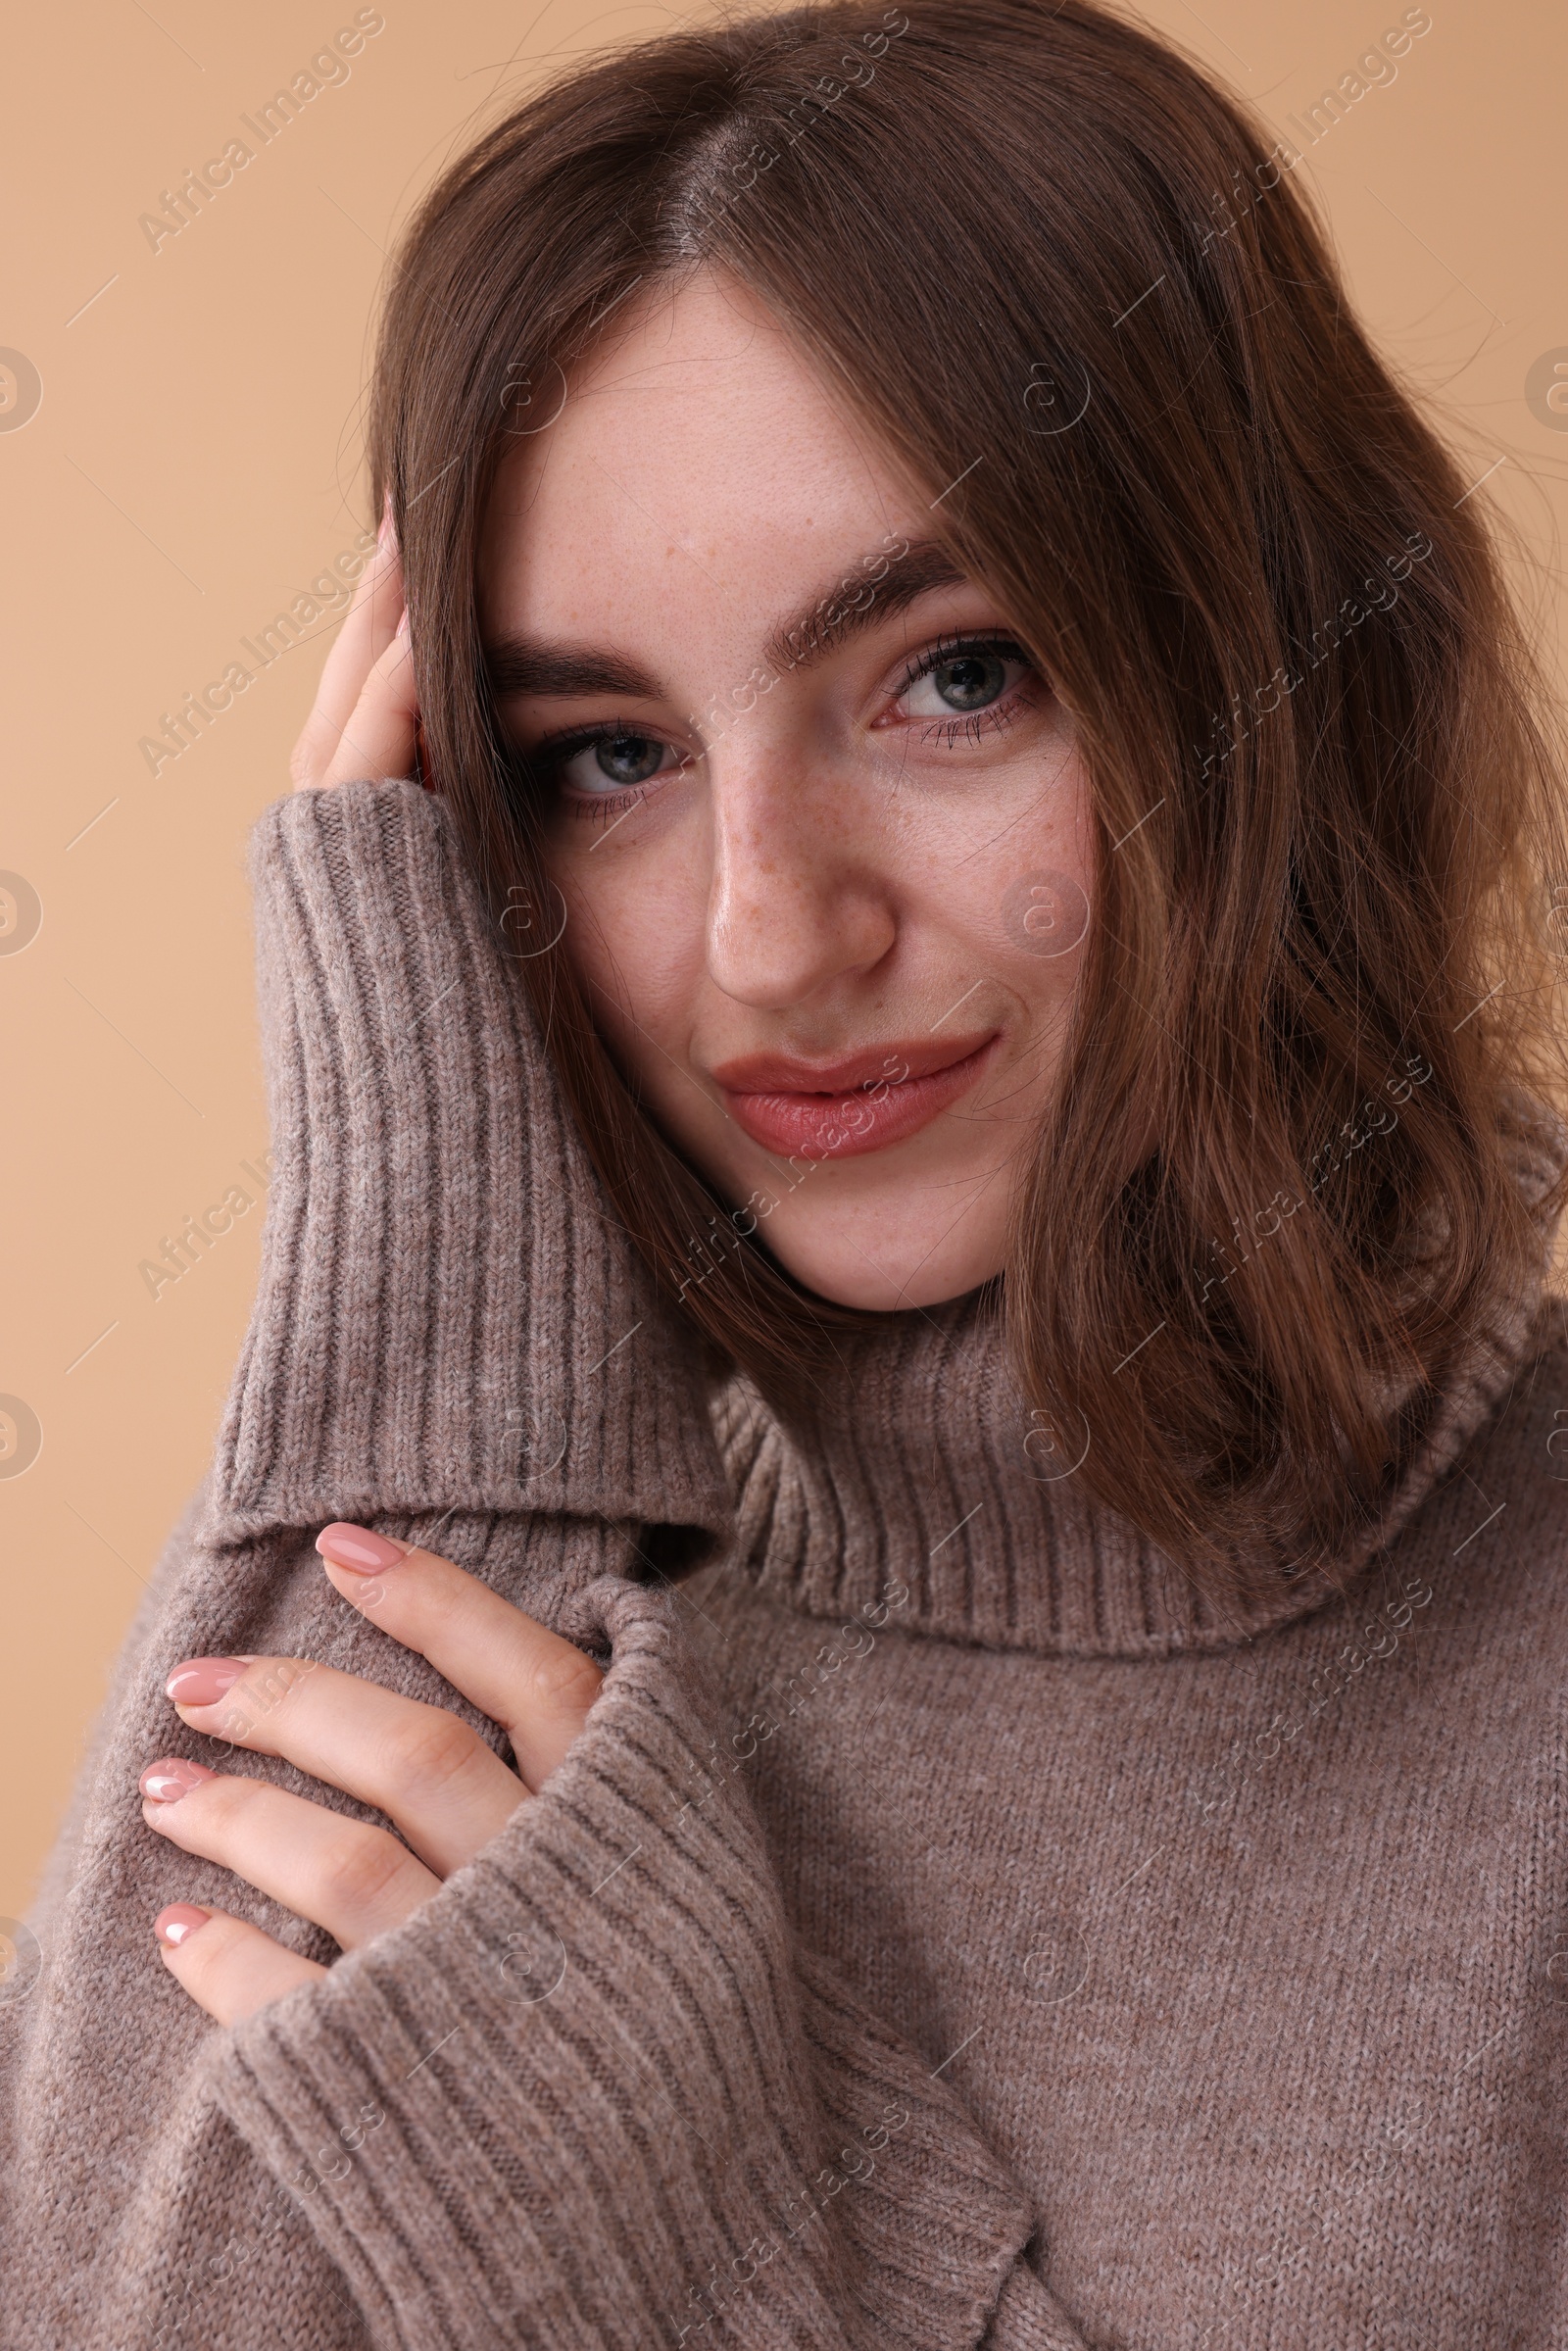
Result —
<svg viewBox="0 0 1568 2351"><path fill-rule="evenodd" d="M322 665L315 710L294 745L289 773L296 792L411 776L416 748L409 609L388 501L376 552Z"/></svg>

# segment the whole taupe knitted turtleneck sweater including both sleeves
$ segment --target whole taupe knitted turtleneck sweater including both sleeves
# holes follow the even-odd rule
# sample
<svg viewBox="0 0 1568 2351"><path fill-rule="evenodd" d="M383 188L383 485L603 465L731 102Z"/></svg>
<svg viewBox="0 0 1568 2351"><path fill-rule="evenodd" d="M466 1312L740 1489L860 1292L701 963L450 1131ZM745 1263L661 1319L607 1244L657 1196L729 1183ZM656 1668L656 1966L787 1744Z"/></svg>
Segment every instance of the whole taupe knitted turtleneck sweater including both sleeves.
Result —
<svg viewBox="0 0 1568 2351"><path fill-rule="evenodd" d="M976 1298L809 1420L708 1389L435 797L301 792L252 870L261 1284L0 1998L7 2351L1568 2346L1566 1310L1474 1335L1349 1601L1218 1610L1034 1458ZM1535 1201L1568 1138L1516 1140ZM136 1801L212 1759L197 1653L503 1744L329 1519L607 1662L348 1956ZM172 1900L334 1965L216 2027Z"/></svg>

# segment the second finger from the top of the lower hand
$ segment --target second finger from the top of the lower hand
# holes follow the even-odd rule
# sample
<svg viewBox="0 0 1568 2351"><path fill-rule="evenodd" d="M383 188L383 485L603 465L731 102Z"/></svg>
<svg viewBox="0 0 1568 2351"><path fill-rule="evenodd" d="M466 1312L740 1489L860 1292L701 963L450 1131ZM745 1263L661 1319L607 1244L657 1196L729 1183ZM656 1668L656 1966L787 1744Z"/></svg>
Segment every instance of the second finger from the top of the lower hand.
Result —
<svg viewBox="0 0 1568 2351"><path fill-rule="evenodd" d="M374 1803L442 1878L473 1860L529 1794L447 1707L313 1657L190 1657L169 1674L167 1693L193 1730L284 1756L313 1780Z"/></svg>

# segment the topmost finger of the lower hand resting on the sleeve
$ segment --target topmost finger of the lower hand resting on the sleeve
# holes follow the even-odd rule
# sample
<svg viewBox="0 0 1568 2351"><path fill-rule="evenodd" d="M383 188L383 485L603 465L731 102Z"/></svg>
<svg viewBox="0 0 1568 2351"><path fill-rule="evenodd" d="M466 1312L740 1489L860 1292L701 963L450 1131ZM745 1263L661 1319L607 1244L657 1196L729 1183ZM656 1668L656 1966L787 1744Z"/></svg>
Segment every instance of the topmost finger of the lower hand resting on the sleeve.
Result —
<svg viewBox="0 0 1568 2351"><path fill-rule="evenodd" d="M343 1599L503 1723L517 1770L538 1789L599 1695L592 1657L437 1552L343 1523L322 1528L315 1547Z"/></svg>

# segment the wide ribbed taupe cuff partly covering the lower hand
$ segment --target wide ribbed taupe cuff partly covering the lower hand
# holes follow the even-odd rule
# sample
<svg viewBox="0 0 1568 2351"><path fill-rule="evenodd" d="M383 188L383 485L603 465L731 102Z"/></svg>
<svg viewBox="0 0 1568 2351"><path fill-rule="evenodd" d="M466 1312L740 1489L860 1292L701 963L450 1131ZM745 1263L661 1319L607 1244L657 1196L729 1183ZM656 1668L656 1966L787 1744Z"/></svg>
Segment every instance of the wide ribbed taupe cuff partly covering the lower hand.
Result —
<svg viewBox="0 0 1568 2351"><path fill-rule="evenodd" d="M604 1578L574 1629L614 1655L564 1763L402 1928L226 2034L214 2099L409 2351L973 2351L1027 2198L797 1963L672 1601Z"/></svg>

